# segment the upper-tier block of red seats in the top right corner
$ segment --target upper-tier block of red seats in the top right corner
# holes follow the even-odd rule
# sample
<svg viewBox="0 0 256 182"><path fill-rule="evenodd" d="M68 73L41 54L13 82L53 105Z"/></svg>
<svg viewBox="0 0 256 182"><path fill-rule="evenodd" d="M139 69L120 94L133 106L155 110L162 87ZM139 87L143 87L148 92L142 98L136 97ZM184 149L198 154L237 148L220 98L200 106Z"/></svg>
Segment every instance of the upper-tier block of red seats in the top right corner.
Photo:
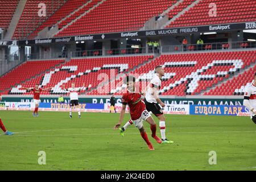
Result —
<svg viewBox="0 0 256 182"><path fill-rule="evenodd" d="M209 4L217 5L217 16L209 16ZM166 28L208 24L252 22L256 20L255 0L204 0L171 22ZM171 14L172 15L172 14Z"/></svg>

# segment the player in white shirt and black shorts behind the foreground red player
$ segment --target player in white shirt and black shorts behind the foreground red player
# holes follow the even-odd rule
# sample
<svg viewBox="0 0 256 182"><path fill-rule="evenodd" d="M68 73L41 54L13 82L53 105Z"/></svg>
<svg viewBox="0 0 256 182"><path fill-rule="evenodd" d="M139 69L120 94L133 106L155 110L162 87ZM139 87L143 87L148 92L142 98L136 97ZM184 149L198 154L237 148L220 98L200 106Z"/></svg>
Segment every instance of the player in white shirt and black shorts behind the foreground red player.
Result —
<svg viewBox="0 0 256 182"><path fill-rule="evenodd" d="M170 144L174 142L166 138L166 118L164 117L163 110L160 107L164 107L165 105L159 98L159 89L162 86L161 78L164 76L164 68L162 67L162 65L158 65L157 67L155 67L155 73L155 76L150 81L150 85L148 85L147 87L144 102L147 111L151 111L159 119L159 129L162 137L162 143ZM120 135L123 136L123 131L125 131L127 127L132 124L133 122L129 120L120 130Z"/></svg>

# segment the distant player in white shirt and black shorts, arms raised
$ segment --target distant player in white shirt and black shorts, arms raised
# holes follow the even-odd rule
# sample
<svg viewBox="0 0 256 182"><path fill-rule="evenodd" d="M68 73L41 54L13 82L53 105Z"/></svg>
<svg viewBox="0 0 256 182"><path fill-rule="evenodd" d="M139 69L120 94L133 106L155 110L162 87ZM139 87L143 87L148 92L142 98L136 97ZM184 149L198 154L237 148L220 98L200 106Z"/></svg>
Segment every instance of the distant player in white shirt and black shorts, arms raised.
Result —
<svg viewBox="0 0 256 182"><path fill-rule="evenodd" d="M82 85L82 88L75 88L75 83L73 82L71 84L71 88L65 89L65 86L63 86L63 90L68 91L70 93L69 118L72 118L72 107L74 107L74 109L75 109L76 106L78 107L77 112L79 114L79 118L81 118L81 111L80 111L80 107L79 107L78 93L81 90L84 90L84 85Z"/></svg>

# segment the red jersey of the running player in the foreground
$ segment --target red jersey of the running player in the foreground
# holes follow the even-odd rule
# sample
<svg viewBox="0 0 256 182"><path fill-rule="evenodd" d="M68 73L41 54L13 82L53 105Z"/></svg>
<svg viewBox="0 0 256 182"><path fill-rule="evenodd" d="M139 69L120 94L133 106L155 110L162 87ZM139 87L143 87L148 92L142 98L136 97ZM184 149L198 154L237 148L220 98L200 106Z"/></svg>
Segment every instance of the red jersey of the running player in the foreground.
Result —
<svg viewBox="0 0 256 182"><path fill-rule="evenodd" d="M122 104L128 104L130 108L131 119L136 120L141 117L143 110L146 110L146 105L141 99L141 93L129 92L124 93Z"/></svg>

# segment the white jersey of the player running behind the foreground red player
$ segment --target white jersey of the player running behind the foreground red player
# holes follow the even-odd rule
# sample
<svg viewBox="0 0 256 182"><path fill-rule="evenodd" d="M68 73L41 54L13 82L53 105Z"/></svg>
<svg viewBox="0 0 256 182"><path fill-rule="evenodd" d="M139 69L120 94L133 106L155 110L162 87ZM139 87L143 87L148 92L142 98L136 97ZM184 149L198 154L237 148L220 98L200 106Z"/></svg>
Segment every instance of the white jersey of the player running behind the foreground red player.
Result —
<svg viewBox="0 0 256 182"><path fill-rule="evenodd" d="M152 88L154 86L156 86L158 89L157 94L159 94L159 89L161 88L161 85L162 85L162 81L160 80L158 75L155 74L155 76L152 78L152 80L150 81L150 84L148 85L148 88L147 88L147 92L146 92L146 96L145 96L147 102L158 103L158 102L156 102L155 97L152 96L151 93L153 92Z"/></svg>

